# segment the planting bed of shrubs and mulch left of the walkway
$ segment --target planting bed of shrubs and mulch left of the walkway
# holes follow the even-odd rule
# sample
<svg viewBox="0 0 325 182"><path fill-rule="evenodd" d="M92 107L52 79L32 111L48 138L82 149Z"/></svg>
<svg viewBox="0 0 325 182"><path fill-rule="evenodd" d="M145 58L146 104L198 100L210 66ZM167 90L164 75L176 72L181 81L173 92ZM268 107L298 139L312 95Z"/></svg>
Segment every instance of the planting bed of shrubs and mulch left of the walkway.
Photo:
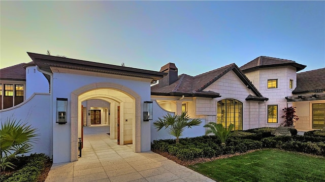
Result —
<svg viewBox="0 0 325 182"><path fill-rule="evenodd" d="M52 166L51 160L44 154L20 156L11 161L15 169L0 172L2 182L43 182Z"/></svg>

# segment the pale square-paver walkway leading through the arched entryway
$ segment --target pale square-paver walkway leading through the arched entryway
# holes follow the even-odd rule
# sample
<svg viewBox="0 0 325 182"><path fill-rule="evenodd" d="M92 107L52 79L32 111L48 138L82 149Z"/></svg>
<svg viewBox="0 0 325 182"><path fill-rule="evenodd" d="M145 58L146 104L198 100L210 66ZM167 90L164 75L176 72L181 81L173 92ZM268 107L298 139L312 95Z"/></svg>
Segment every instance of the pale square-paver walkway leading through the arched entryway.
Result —
<svg viewBox="0 0 325 182"><path fill-rule="evenodd" d="M53 164L45 181L214 180L151 151L134 153L132 145L117 145L105 132L88 132L84 135L82 157L71 163Z"/></svg>

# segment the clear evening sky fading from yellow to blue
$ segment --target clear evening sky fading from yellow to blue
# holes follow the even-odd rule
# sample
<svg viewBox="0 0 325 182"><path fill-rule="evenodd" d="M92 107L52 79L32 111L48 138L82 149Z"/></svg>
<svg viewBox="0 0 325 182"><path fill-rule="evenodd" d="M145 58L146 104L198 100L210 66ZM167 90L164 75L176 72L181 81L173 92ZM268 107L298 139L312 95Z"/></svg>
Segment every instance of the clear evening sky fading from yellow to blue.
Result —
<svg viewBox="0 0 325 182"><path fill-rule="evenodd" d="M198 75L259 56L325 67L325 1L0 1L0 68L26 52Z"/></svg>

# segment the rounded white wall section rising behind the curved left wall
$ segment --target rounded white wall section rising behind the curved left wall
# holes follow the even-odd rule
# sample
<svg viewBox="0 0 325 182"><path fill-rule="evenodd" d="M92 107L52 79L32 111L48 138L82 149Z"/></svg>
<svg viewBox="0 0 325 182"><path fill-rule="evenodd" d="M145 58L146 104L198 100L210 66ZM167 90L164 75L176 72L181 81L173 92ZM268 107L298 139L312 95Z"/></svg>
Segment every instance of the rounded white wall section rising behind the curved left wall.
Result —
<svg viewBox="0 0 325 182"><path fill-rule="evenodd" d="M49 93L49 82L43 75L36 69L36 66L26 67L26 99L34 93Z"/></svg>

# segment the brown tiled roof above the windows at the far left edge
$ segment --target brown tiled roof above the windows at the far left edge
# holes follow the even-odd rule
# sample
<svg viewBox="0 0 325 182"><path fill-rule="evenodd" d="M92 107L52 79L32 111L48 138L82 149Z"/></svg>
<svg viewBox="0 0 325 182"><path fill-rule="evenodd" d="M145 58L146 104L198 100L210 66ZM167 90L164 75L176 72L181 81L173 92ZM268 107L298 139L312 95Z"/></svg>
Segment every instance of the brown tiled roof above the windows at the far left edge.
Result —
<svg viewBox="0 0 325 182"><path fill-rule="evenodd" d="M23 68L25 63L0 69L1 80L26 81L26 70Z"/></svg>

